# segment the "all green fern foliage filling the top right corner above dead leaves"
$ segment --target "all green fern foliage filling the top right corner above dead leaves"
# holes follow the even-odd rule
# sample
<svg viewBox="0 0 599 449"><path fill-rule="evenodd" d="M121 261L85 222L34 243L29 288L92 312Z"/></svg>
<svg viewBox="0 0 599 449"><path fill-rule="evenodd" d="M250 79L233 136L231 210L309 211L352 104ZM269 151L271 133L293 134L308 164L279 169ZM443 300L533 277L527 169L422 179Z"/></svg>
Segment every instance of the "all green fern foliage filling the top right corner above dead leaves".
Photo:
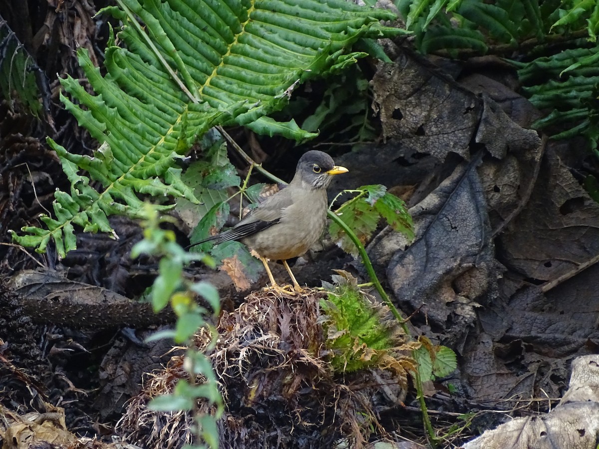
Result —
<svg viewBox="0 0 599 449"><path fill-rule="evenodd" d="M599 139L599 2L595 0L397 0L422 53L497 54L518 68L524 95L553 138Z"/></svg>

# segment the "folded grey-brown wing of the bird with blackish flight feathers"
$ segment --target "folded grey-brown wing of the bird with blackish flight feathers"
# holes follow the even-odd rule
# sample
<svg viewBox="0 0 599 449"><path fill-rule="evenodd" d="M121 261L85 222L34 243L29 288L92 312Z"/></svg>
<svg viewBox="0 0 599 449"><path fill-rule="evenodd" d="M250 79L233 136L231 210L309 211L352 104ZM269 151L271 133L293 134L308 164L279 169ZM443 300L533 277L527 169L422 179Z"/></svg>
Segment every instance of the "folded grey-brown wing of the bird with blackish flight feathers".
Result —
<svg viewBox="0 0 599 449"><path fill-rule="evenodd" d="M250 211L241 222L237 223L231 229L220 233L216 239L216 243L240 240L279 223L285 213L285 208L291 206L293 203L292 191L289 188L285 187L285 189L265 199L258 207Z"/></svg>

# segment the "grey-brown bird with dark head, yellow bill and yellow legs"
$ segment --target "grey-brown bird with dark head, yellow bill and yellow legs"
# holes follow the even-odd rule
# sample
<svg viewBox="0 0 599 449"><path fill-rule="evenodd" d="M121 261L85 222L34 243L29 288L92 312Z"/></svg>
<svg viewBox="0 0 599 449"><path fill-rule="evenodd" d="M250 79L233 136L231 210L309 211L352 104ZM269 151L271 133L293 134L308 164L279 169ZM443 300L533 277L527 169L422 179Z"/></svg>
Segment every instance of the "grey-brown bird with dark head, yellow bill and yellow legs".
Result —
<svg viewBox="0 0 599 449"><path fill-rule="evenodd" d="M291 286L279 286L268 260L281 260L289 273L295 292L302 292L287 259L304 254L319 239L326 224L328 198L326 188L334 175L347 168L335 165L331 156L310 150L299 159L291 183L265 199L231 229L196 242L220 244L240 241L258 255L270 279L271 289L294 293Z"/></svg>

